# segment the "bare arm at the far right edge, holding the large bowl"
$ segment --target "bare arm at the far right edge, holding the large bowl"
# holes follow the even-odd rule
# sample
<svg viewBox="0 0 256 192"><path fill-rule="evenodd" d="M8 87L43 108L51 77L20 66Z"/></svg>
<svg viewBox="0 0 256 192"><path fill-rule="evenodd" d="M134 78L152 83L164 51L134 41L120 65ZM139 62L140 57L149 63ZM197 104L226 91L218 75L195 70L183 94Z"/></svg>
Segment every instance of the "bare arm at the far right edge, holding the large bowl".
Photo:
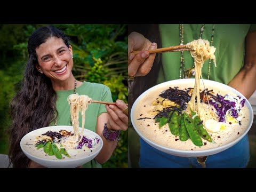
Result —
<svg viewBox="0 0 256 192"><path fill-rule="evenodd" d="M256 90L256 31L251 31L246 36L244 67L228 83L247 99Z"/></svg>

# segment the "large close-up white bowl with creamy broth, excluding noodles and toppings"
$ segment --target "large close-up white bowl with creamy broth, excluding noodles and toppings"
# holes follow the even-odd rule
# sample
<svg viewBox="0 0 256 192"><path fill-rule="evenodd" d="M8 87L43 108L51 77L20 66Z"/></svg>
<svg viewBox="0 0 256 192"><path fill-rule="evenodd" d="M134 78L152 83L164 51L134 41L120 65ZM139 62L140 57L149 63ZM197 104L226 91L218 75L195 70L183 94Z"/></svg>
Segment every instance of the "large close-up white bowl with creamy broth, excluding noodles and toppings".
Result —
<svg viewBox="0 0 256 192"><path fill-rule="evenodd" d="M203 84L203 82L204 82L204 84ZM216 90L220 90L219 92L216 92L216 93L219 93L223 96L225 95L225 94L223 94L224 92L231 92L234 95L239 95L239 96L241 96L241 98L245 99L245 97L241 93L239 93L237 90L233 89L232 87L230 87L228 85L218 83L218 82L214 82L214 81L210 81L210 80L204 80L203 82L202 82L202 79L201 79L201 85L200 85L201 90L203 90L204 87L205 88L213 87L213 91L214 91L214 87L215 87ZM209 156L209 155L220 153L221 151L226 150L226 149L234 146L250 130L250 128L252 126L252 123L253 123L253 110L252 110L252 107L251 107L249 101L247 99L245 99L244 106L247 107L246 110L248 111L248 113L247 113L248 115L242 119L242 123L246 121L246 124L244 124L244 125L246 125L246 127L242 131L236 131L236 129L233 129L233 130L236 131L236 132L233 133L235 135L234 139L228 140L227 143L223 142L221 144L220 139L217 137L215 140L219 143L217 143L217 145L215 145L216 147L211 146L211 148L210 148L209 145L210 144L212 145L212 143L209 143L208 141L206 142L204 139L203 139L203 142L205 142L207 145L205 144L205 146L202 146L202 147L197 147L197 146L190 147L190 145L191 145L191 140L190 139L189 139L190 141L187 140L187 141L177 141L177 142L175 142L175 140L179 140L179 136L175 137L174 135L172 135L171 132L169 131L169 127L167 125L165 127L161 128L161 131L162 130L164 130L164 131L162 131L162 132L159 131L159 125L158 125L159 123L155 123L154 119L152 118L152 115L151 116L148 115L148 111L152 110L154 108L154 106L151 106L151 103L153 102L153 100L155 100L157 97L159 97L158 95L162 91L164 91L166 89L169 89L169 87L174 88L174 87L182 87L183 86L183 87L189 88L189 87L194 87L194 84L195 84L195 79L177 79L177 80L173 80L173 81L169 81L169 82L164 82L164 83L161 83L161 84L158 84L156 86L151 87L147 91L143 92L137 98L137 100L135 100L135 102L133 103L132 109L131 109L131 122L132 122L132 125L133 125L135 131L150 146L152 146L152 147L154 147L158 150L161 150L164 153L175 155L175 156L181 156L181 157ZM154 95L154 97L153 96L150 97L150 95ZM140 103L140 101L141 101L141 103ZM140 104L138 105L138 103L140 103ZM137 107L137 105L139 107ZM148 116L151 119L138 120L141 117L148 117ZM139 122L139 121L141 121L141 122ZM236 126L239 129L239 124L238 123L237 123ZM153 127L154 127L154 129L153 129ZM233 130L230 129L230 131L233 131ZM157 131L159 131L159 134L156 134ZM229 133L230 132L226 133L226 135L229 134ZM213 134L215 134L215 133L213 133ZM153 135L153 138L148 137L147 135ZM159 144L162 141L158 142L157 141L158 138L161 138L161 139L164 138L166 140L171 138L172 143L168 142L169 147L166 147L165 145ZM179 147L174 146L175 144L180 145L180 146L181 145L186 145L186 146L189 146L189 148L186 149L186 150L182 150ZM209 148L207 149L206 146L209 147Z"/></svg>

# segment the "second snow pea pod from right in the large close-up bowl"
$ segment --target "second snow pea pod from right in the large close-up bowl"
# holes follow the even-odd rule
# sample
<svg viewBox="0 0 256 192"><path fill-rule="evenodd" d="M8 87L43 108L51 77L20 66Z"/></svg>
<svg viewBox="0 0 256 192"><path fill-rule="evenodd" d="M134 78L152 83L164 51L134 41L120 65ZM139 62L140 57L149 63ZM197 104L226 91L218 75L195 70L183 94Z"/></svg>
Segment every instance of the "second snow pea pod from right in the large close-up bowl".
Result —
<svg viewBox="0 0 256 192"><path fill-rule="evenodd" d="M184 122L191 141L196 146L203 146L203 141L196 130L196 127L193 123L193 119L189 117L186 113L184 113Z"/></svg>

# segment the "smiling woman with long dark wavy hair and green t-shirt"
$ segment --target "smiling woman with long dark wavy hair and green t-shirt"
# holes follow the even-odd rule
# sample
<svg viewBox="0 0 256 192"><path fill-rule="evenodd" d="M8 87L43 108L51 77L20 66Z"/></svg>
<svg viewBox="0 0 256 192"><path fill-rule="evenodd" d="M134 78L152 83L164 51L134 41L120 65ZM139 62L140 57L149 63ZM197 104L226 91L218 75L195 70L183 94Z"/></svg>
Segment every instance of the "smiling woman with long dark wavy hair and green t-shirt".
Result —
<svg viewBox="0 0 256 192"><path fill-rule="evenodd" d="M93 100L112 101L107 86L75 79L71 71L73 50L61 30L45 26L34 31L28 41L28 53L23 87L11 102L13 123L9 157L13 167L42 167L22 153L20 140L41 127L70 125L67 102L70 94L85 94ZM85 127L100 135L103 147L99 155L83 167L101 167L100 164L108 161L116 148L119 132L127 129L127 116L122 111L126 108L121 100L116 101L116 106L91 103L86 110ZM114 139L108 137L112 132L116 135Z"/></svg>

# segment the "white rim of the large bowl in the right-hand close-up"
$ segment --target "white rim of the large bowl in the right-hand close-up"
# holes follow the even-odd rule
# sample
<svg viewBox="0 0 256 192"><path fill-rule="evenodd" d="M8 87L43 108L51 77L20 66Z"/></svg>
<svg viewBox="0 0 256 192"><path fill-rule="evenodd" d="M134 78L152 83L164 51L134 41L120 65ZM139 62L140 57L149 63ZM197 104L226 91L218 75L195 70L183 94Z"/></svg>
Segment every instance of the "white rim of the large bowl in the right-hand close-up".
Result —
<svg viewBox="0 0 256 192"><path fill-rule="evenodd" d="M141 98L143 98L147 93L149 93L150 91L156 89L156 88L159 88L159 87L165 87L165 85L168 85L168 84L172 84L170 86L173 86L173 84L175 84L177 82L177 84L179 82L182 82L182 83L186 83L186 82L191 82L191 81L195 81L194 78L190 78L190 79L174 79L174 80L171 80L171 81L167 81L167 82L163 82L163 83L160 83L160 84L157 84L153 87L150 87L148 90L146 90L145 92L143 92L133 103L132 105L132 108L131 108L131 115L130 115L130 118L131 118L131 122L132 122L132 125L134 127L134 130L139 134L140 138L143 139L144 141L146 141L150 146L158 149L158 150L161 150L163 151L164 153L167 153L167 154L171 154L171 155L175 155L175 156L182 156L182 157L199 157L199 156L209 156L209 155L213 155L213 154L217 154L217 153L220 153L221 151L223 150L226 150L228 149L229 147L232 147L234 146L237 142L239 142L240 140L242 140L244 138L244 136L249 132L249 130L251 129L251 126L252 126L252 123L253 123L253 109L252 109L252 106L250 104L250 102L244 97L244 95L240 92L238 92L237 90L235 90L233 87L230 87L226 84L223 84L223 83L219 83L219 82L215 82L215 81L212 81L212 80L208 80L208 79L203 79L204 81L204 84L206 84L207 82L210 82L210 83L213 83L213 84L217 84L217 85L220 85L222 87L226 87L227 89L233 91L235 94L238 94L240 95L241 97L243 97L245 99L245 105L249 108L249 115L250 115L250 118L251 118L251 121L249 119L249 126L247 127L246 131L241 134L238 138L236 138L234 141L231 141L229 143L227 143L226 145L223 145L223 146L219 146L219 147L216 147L216 148L211 148L211 149L203 149L203 150L195 150L195 151L189 151L189 150L179 150L179 149L172 149L172 148L169 148L169 147L164 147L162 145L158 145L157 143L149 140L148 138L146 138L138 129L137 127L135 126L135 122L134 122L134 110L135 110L135 106L137 105L137 103L139 102L139 100ZM202 79L200 79L200 82L202 81ZM184 155L183 155L184 154ZM203 154L203 155L202 155Z"/></svg>

